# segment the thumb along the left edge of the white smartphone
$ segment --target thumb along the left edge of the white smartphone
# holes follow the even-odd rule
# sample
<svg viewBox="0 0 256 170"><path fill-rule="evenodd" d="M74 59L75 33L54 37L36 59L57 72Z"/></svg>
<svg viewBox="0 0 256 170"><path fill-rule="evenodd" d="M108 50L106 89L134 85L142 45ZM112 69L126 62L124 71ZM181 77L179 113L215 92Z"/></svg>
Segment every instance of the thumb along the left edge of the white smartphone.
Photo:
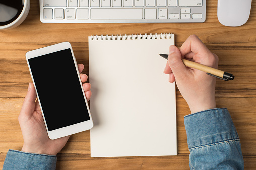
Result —
<svg viewBox="0 0 256 170"><path fill-rule="evenodd" d="M32 82L21 108L20 116L31 116L35 110L36 90Z"/></svg>

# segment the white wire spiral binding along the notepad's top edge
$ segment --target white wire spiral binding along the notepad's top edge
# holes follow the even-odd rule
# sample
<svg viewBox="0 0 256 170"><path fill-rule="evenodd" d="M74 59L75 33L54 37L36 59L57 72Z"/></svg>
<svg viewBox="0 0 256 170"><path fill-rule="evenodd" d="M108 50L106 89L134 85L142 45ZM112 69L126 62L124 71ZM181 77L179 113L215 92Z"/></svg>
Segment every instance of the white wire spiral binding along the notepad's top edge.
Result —
<svg viewBox="0 0 256 170"><path fill-rule="evenodd" d="M139 40L139 39L147 40L147 39L158 39L158 38L159 39L167 39L167 38L171 39L172 38L172 33L169 33L169 34L167 34L167 33L164 33L164 34L155 33L154 35L152 33L150 33L149 35L147 33L145 33L144 35L143 34L140 34L140 35L138 35L138 34L135 34L135 35L125 34L125 36L123 36L122 34L120 34L120 35L116 34L115 36L113 34L111 34L110 38L108 37L108 35L105 35L105 36L100 35L100 38L99 38L99 35L96 35L96 36L92 35L91 36L91 40L104 40L104 38L105 38L105 40L129 40L129 39L130 40Z"/></svg>

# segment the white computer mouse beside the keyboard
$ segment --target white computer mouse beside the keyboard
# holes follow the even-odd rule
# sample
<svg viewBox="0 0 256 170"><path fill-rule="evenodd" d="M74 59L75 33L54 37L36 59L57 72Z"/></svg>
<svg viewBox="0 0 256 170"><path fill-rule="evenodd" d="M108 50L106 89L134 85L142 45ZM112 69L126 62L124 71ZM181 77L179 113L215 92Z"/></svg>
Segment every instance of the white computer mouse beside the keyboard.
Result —
<svg viewBox="0 0 256 170"><path fill-rule="evenodd" d="M224 26L241 26L250 16L252 0L218 0L218 20Z"/></svg>

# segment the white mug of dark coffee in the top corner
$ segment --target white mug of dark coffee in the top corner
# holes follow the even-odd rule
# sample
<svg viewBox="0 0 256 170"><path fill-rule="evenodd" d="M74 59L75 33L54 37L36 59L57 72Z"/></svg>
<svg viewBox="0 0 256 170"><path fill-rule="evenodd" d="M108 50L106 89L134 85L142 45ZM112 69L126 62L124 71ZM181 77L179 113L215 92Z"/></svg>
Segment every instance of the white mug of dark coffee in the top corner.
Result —
<svg viewBox="0 0 256 170"><path fill-rule="evenodd" d="M29 8L30 0L0 0L0 30L20 25L28 16Z"/></svg>

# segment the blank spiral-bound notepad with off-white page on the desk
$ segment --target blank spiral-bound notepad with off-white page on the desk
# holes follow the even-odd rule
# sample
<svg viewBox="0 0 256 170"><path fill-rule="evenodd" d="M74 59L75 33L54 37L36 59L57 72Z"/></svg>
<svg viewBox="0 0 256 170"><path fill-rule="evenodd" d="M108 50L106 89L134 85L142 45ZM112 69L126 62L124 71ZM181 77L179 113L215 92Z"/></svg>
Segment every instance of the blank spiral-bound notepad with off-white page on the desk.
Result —
<svg viewBox="0 0 256 170"><path fill-rule="evenodd" d="M91 157L177 155L174 34L89 37Z"/></svg>

